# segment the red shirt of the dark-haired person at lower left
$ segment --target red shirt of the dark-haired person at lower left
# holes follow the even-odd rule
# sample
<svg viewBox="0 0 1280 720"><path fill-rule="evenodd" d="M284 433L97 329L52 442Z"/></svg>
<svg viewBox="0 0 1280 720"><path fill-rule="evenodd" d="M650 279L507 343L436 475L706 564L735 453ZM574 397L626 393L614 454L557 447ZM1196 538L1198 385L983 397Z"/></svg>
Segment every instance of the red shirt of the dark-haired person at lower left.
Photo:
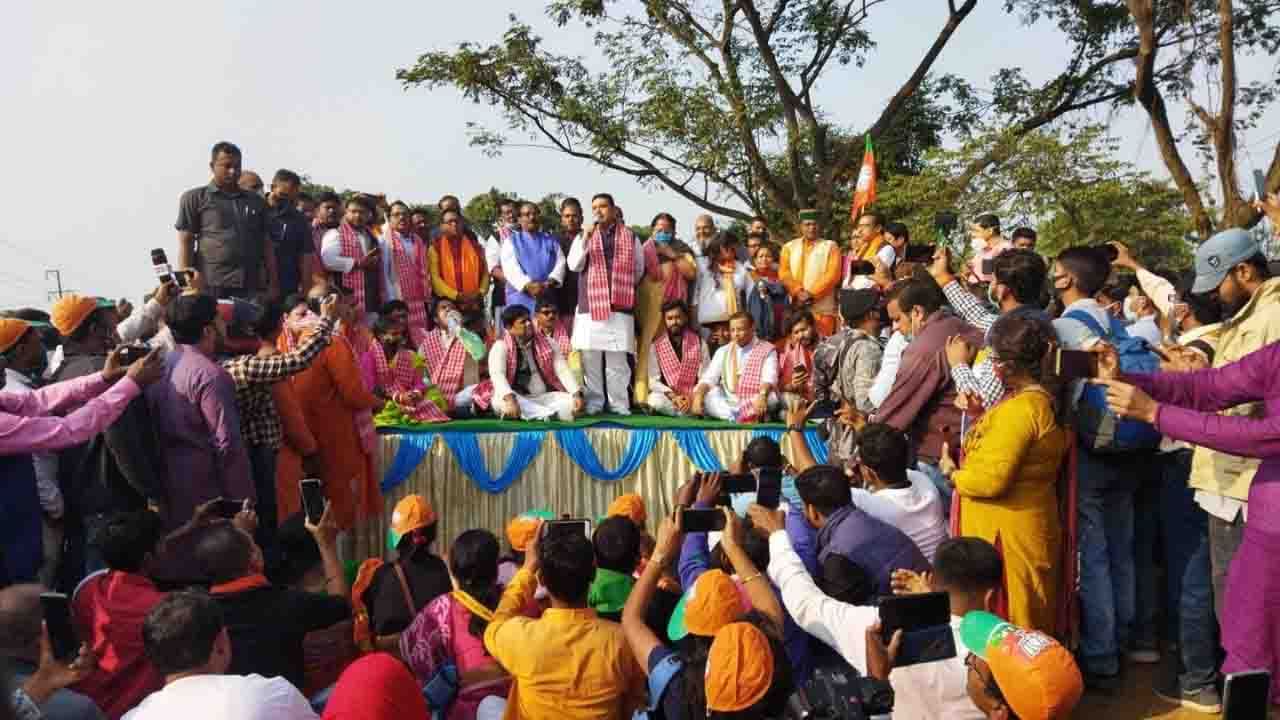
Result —
<svg viewBox="0 0 1280 720"><path fill-rule="evenodd" d="M111 720L164 687L142 648L142 621L164 596L142 575L108 570L86 578L72 600L76 624L97 655L97 670L74 689Z"/></svg>

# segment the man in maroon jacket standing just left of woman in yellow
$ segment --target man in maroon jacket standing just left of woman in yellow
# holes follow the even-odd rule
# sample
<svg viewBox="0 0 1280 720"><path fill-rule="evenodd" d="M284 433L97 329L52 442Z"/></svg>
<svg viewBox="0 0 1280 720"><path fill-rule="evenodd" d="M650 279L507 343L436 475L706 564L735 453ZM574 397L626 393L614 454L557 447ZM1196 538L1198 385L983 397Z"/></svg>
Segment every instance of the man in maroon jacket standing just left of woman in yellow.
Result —
<svg viewBox="0 0 1280 720"><path fill-rule="evenodd" d="M961 419L946 345L948 338L961 336L977 346L982 333L951 313L942 291L928 278L908 282L891 302L897 306L897 331L909 343L902 351L893 387L874 420L910 436L918 469L938 486L943 498L950 500L951 487L937 464L943 445L959 446Z"/></svg>

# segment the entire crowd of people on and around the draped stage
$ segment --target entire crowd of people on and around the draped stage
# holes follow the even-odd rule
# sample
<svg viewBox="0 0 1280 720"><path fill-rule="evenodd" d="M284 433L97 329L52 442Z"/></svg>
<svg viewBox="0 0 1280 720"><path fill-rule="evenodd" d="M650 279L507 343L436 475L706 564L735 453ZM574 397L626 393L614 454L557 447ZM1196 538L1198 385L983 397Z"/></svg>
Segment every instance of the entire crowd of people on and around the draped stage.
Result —
<svg viewBox="0 0 1280 720"><path fill-rule="evenodd" d="M608 193L552 234L527 201L489 228L268 188L225 142L210 170L138 307L0 318L0 719L1068 717L1132 664L1201 712L1280 679L1280 279L1244 231L1178 274L991 214L934 246L813 210L641 240ZM602 413L781 421L788 457L731 468L781 498L690 469L499 539L410 495L355 556L379 423ZM877 605L918 593L955 652L900 664Z"/></svg>

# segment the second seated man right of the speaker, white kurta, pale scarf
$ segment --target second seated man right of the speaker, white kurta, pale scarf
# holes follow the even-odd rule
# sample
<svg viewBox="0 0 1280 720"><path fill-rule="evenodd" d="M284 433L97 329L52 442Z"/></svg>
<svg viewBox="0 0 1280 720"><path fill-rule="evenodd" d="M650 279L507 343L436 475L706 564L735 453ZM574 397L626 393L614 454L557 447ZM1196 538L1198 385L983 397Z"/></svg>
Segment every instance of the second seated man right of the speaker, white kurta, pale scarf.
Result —
<svg viewBox="0 0 1280 720"><path fill-rule="evenodd" d="M730 343L716 351L694 388L691 414L735 423L765 420L782 404L773 392L778 384L778 352L773 343L755 337L749 313L730 318L728 334Z"/></svg>

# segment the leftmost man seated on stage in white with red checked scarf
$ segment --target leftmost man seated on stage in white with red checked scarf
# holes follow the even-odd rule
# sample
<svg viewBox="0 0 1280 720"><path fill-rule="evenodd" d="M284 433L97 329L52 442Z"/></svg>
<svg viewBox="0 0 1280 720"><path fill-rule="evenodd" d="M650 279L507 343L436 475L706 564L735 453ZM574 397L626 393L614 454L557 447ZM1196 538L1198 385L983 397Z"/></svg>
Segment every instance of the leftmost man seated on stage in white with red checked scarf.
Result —
<svg viewBox="0 0 1280 720"><path fill-rule="evenodd" d="M435 328L426 333L419 352L426 360L431 382L444 395L452 418L471 416L471 398L480 382L484 342L462 327L462 313L447 297L436 297L431 309ZM479 351L479 352L476 352Z"/></svg>

